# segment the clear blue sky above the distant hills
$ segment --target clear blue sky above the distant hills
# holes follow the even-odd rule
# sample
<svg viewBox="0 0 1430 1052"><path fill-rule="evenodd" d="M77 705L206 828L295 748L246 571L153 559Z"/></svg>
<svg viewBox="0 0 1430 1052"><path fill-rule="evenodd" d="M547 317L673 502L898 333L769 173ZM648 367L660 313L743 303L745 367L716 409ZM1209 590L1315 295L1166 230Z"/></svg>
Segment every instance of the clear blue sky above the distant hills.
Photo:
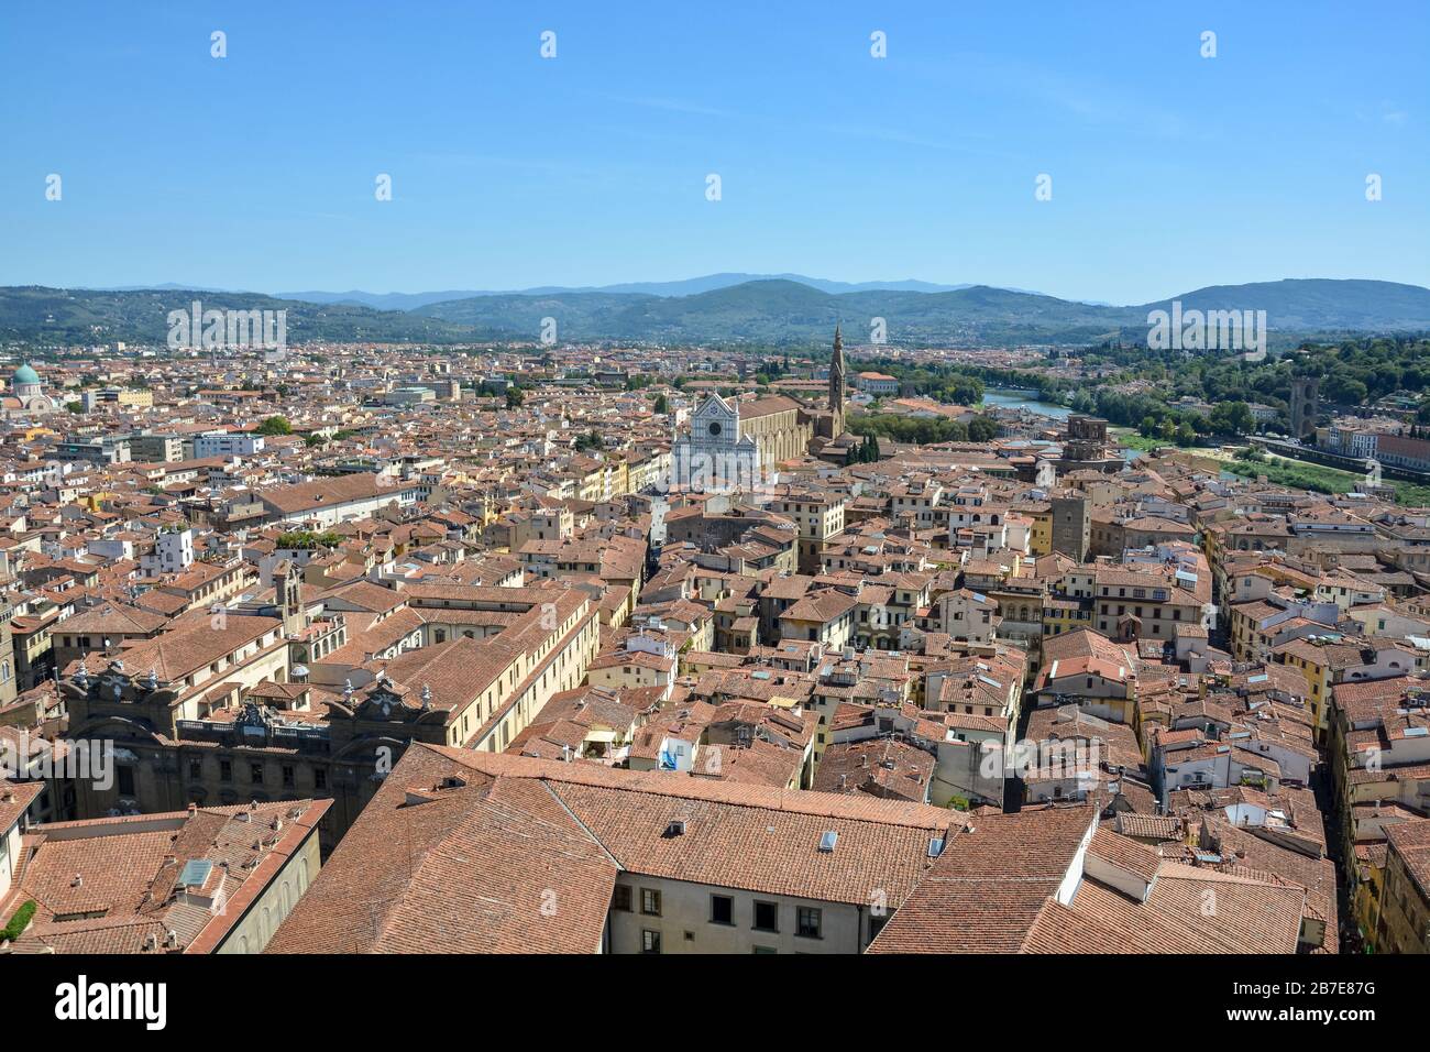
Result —
<svg viewBox="0 0 1430 1052"><path fill-rule="evenodd" d="M4 285L1430 285L1421 0L10 3L0 90Z"/></svg>

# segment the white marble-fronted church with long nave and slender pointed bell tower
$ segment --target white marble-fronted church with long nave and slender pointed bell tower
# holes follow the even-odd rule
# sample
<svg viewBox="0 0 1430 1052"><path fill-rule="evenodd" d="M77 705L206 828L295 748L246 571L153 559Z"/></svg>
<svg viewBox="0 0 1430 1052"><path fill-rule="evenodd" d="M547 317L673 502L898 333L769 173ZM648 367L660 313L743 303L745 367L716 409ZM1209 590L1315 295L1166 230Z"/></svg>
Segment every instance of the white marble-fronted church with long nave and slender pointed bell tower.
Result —
<svg viewBox="0 0 1430 1052"><path fill-rule="evenodd" d="M844 432L844 341L834 333L829 406L812 409L794 398L769 395L748 401L708 395L691 418L689 432L671 448L671 488L699 492L749 492L778 482L778 465L805 457L817 438Z"/></svg>

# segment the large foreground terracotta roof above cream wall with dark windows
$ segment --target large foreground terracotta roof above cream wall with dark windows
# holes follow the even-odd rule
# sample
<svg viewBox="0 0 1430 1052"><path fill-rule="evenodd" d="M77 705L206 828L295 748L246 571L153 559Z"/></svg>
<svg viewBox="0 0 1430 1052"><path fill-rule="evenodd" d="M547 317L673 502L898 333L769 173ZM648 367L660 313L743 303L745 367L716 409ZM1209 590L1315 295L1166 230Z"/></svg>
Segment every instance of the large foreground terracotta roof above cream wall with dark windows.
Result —
<svg viewBox="0 0 1430 1052"><path fill-rule="evenodd" d="M668 836L675 820L685 832ZM921 804L418 744L269 949L593 952L618 870L851 905L878 890L892 907L958 822ZM827 832L832 852L819 850Z"/></svg>

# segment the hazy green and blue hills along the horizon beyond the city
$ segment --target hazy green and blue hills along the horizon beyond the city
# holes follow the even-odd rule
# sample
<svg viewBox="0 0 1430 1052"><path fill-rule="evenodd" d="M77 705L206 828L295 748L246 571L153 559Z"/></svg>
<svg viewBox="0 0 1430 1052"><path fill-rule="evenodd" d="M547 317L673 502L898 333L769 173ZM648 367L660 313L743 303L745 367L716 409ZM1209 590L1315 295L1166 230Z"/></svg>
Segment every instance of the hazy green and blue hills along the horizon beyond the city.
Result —
<svg viewBox="0 0 1430 1052"><path fill-rule="evenodd" d="M925 282L842 285L812 279L709 275L691 282L602 289L388 293L409 298L386 309L352 302L368 293L285 293L146 289L0 288L0 342L163 342L172 309L193 299L204 308L286 309L287 338L432 342L535 341L545 318L559 341L658 344L794 344L828 341L835 322L847 339L868 339L882 318L891 344L1008 346L1017 344L1143 342L1147 315L1171 299L1108 306L987 285ZM694 286L708 285L698 291ZM664 289L649 292L642 289ZM678 289L678 292L672 292ZM333 296L335 299L319 299ZM426 302L425 298L432 296ZM1266 311L1273 345L1308 336L1430 331L1430 289L1380 281L1287 279L1217 285L1174 296L1183 311Z"/></svg>

